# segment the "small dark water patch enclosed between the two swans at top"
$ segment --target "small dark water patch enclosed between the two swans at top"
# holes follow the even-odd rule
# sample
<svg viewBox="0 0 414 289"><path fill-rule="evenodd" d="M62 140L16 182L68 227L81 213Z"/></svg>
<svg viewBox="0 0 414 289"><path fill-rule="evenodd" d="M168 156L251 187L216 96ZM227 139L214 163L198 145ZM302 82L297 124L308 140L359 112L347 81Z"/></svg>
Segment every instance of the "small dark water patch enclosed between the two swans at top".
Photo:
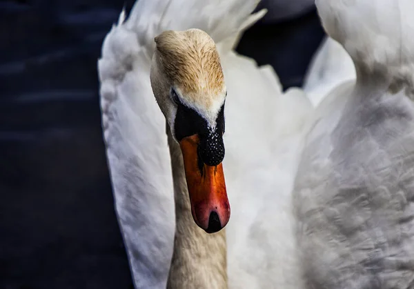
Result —
<svg viewBox="0 0 414 289"><path fill-rule="evenodd" d="M324 36L314 9L281 23L257 23L246 31L237 50L259 65L273 66L284 89L301 87L311 58Z"/></svg>

